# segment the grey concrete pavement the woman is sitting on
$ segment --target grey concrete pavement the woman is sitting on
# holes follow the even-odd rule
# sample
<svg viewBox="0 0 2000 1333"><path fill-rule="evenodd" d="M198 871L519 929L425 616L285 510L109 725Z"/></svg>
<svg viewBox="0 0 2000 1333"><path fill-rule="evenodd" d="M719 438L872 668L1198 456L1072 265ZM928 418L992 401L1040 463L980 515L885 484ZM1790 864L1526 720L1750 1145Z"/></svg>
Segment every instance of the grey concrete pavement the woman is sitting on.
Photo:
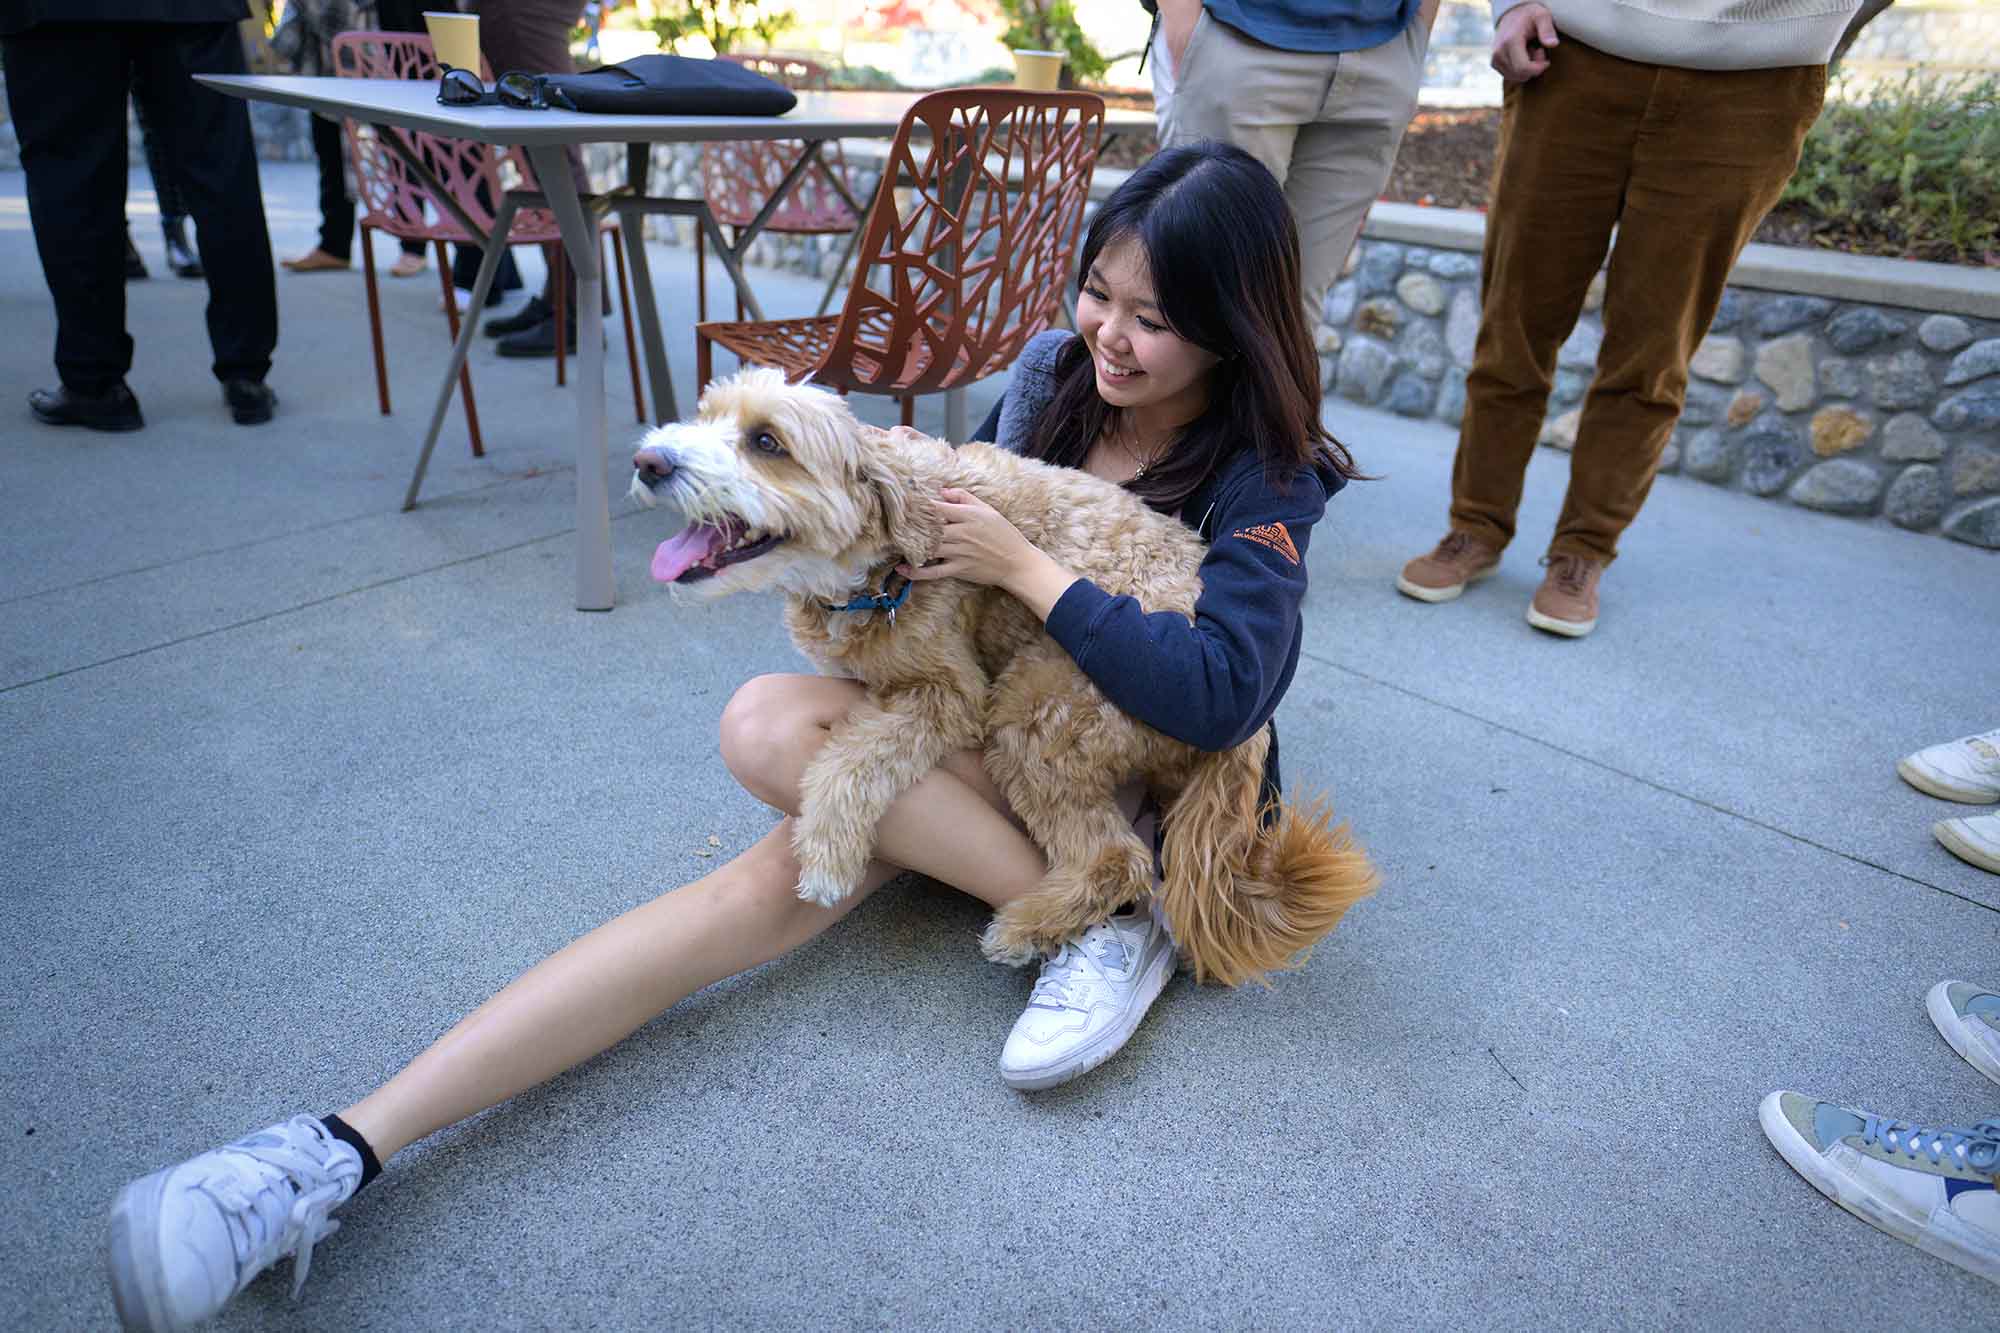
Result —
<svg viewBox="0 0 2000 1333"><path fill-rule="evenodd" d="M278 252L304 250L312 168L264 182ZM52 314L0 174L6 1327L110 1325L126 1179L354 1101L760 837L716 719L802 669L776 602L654 588L666 532L622 498L620 606L570 608L574 410L546 364L482 348L490 456L454 410L398 512L448 350L434 274L384 280L390 418L358 274L280 274L280 414L238 428L202 284L148 258L148 428L38 426ZM682 394L690 262L654 252ZM770 308L816 298L758 280ZM1756 1103L2000 1105L1922 1011L1938 979L2000 985L2000 879L1932 843L1958 811L1892 769L2000 725L2000 556L1668 476L1598 632L1564 642L1522 622L1560 456L1502 574L1424 606L1392 578L1442 534L1452 438L1328 412L1380 478L1314 538L1280 727L1292 789L1334 795L1384 889L1310 967L1180 979L1112 1065L1022 1097L994 1061L1028 977L912 881L410 1149L300 1305L266 1277L218 1327L1990 1323L1990 1285L1834 1209Z"/></svg>

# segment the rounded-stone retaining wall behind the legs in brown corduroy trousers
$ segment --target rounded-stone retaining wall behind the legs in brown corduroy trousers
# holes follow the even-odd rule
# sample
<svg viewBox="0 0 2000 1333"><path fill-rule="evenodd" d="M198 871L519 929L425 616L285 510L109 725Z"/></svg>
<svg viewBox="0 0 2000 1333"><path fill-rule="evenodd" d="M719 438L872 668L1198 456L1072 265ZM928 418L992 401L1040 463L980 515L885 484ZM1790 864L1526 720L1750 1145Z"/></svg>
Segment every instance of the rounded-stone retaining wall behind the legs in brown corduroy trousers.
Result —
<svg viewBox="0 0 2000 1333"><path fill-rule="evenodd" d="M1602 302L1600 272L1558 354L1552 448L1576 442ZM1326 388L1458 424L1478 322L1478 254L1364 236L1326 298ZM1730 286L1662 470L2000 548L2000 298L1968 316Z"/></svg>

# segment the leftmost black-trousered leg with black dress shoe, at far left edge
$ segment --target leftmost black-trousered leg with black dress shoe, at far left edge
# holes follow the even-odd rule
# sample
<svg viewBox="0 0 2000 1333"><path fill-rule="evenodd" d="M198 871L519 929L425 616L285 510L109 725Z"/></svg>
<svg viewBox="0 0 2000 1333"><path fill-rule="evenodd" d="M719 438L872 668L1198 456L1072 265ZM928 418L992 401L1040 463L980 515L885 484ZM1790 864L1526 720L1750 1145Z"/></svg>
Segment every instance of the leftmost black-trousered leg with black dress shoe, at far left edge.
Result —
<svg viewBox="0 0 2000 1333"><path fill-rule="evenodd" d="M124 24L38 24L0 42L28 220L56 304L60 388L28 396L48 424L136 430L124 384L126 90Z"/></svg>

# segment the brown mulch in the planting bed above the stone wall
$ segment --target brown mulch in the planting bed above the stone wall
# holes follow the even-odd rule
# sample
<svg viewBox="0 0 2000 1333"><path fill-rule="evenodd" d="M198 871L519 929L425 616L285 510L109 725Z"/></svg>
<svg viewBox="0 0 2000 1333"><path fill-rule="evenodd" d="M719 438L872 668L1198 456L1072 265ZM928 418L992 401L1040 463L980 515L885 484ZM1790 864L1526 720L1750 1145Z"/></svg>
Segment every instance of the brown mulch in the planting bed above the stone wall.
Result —
<svg viewBox="0 0 2000 1333"><path fill-rule="evenodd" d="M1150 98L1106 98L1150 108ZM1396 204L1486 210L1500 142L1500 110L1422 110L1410 122L1396 154L1382 198ZM1132 168L1154 154L1152 134L1122 134L1106 150L1102 164ZM1756 232L1756 240L1780 246L1838 248L1848 254L1908 256L1894 234L1842 234L1798 206L1780 206ZM1936 258L1930 254L1918 258Z"/></svg>

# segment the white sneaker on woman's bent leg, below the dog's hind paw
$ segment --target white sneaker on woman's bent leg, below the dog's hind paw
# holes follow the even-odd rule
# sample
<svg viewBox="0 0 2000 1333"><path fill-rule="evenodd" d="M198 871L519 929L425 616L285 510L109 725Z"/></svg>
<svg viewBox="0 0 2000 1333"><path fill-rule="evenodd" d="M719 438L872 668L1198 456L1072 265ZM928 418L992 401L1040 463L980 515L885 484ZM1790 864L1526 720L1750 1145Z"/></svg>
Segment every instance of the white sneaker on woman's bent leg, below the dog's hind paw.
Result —
<svg viewBox="0 0 2000 1333"><path fill-rule="evenodd" d="M1150 907L1090 927L1042 963L1000 1051L1000 1081L1042 1089L1096 1069L1132 1037L1172 975L1174 945Z"/></svg>

